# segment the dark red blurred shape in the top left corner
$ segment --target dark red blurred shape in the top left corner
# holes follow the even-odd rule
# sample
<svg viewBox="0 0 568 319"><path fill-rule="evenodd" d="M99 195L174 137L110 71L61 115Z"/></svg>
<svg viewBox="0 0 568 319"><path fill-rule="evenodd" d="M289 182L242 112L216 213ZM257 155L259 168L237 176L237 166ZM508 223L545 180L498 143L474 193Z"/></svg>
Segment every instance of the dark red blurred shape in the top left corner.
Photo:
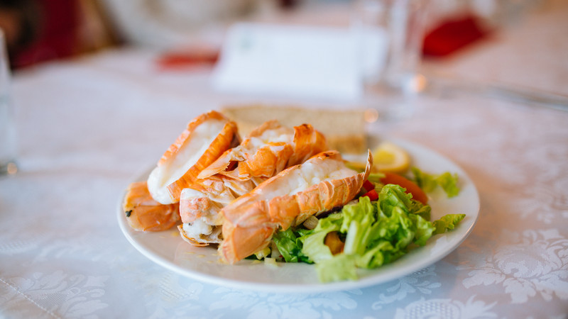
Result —
<svg viewBox="0 0 568 319"><path fill-rule="evenodd" d="M14 68L70 57L78 52L80 11L75 0L37 1L40 13L37 38L13 52Z"/></svg>

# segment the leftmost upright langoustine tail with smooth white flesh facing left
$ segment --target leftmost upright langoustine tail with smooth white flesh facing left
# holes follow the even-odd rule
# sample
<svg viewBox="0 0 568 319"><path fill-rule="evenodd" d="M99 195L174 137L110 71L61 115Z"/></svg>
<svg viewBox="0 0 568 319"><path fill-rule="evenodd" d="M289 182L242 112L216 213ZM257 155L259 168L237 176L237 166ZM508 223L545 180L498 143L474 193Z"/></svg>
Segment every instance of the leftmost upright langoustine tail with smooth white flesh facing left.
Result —
<svg viewBox="0 0 568 319"><path fill-rule="evenodd" d="M236 123L209 111L187 124L148 176L148 191L162 204L180 201L182 189L231 147L239 144Z"/></svg>

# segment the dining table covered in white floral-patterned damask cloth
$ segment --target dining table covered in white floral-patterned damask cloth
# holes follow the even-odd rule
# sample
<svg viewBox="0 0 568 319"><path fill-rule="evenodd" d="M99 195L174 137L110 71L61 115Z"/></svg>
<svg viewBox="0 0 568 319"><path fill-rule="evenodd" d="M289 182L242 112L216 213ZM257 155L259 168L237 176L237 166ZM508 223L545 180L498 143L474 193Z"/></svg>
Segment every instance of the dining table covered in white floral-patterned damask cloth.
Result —
<svg viewBox="0 0 568 319"><path fill-rule="evenodd" d="M326 6L348 20L348 4ZM201 113L355 103L219 92L212 65L163 69L163 51L136 45L16 70L0 318L568 318L567 16L566 1L535 1L452 55L422 59L412 113L368 123L366 134L455 165L471 187L471 227L458 225L455 247L408 274L329 289L180 271L169 250L136 245L121 203ZM190 247L176 230L161 236Z"/></svg>

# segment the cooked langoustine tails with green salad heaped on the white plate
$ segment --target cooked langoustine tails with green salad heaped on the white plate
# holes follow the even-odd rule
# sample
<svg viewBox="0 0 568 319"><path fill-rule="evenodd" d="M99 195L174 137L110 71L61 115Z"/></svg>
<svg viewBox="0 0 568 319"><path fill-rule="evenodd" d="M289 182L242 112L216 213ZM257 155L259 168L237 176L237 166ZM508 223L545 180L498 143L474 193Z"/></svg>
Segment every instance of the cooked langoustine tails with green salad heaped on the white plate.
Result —
<svg viewBox="0 0 568 319"><path fill-rule="evenodd" d="M366 153L346 161L309 123L266 121L241 140L234 121L209 111L187 124L146 181L129 185L122 208L133 230L176 227L188 245L218 247L225 264L307 262L321 281L354 280L355 269L392 262L464 218L430 221L425 189L455 195L456 175L408 163L381 172L373 164L384 152Z"/></svg>

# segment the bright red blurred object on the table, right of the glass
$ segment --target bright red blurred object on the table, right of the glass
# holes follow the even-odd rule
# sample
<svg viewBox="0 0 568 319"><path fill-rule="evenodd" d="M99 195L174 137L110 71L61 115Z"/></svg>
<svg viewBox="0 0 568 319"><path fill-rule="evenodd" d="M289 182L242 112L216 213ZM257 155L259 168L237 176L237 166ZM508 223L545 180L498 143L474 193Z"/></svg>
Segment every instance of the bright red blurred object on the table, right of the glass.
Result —
<svg viewBox="0 0 568 319"><path fill-rule="evenodd" d="M484 38L487 34L488 31L481 28L478 19L474 16L444 21L425 35L422 54L444 57Z"/></svg>

